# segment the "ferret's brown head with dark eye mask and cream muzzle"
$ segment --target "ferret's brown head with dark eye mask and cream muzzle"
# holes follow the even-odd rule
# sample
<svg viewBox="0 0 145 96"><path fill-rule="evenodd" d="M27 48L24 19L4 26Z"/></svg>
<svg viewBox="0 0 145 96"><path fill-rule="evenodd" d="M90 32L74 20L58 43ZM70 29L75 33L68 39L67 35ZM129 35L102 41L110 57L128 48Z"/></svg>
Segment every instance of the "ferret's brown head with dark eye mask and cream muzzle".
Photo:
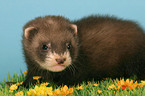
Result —
<svg viewBox="0 0 145 96"><path fill-rule="evenodd" d="M77 57L77 44L77 26L61 16L39 17L24 26L26 59L44 70L65 70Z"/></svg>

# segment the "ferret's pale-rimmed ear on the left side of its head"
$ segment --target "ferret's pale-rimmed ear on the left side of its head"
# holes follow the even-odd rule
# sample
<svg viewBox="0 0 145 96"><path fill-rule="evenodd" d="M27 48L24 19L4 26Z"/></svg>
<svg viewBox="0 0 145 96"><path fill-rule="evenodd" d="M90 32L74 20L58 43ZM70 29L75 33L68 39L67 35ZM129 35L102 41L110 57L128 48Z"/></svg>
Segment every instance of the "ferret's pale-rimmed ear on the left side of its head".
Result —
<svg viewBox="0 0 145 96"><path fill-rule="evenodd" d="M24 29L24 36L26 39L32 39L37 32L38 30L35 27L28 27Z"/></svg>

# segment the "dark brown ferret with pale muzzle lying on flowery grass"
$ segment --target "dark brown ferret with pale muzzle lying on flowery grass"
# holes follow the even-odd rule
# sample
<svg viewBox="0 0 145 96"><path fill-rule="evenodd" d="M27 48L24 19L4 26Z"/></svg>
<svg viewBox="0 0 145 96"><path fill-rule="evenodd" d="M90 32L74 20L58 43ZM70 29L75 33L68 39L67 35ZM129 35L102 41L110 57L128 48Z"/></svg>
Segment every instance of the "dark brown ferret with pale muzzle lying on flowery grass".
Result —
<svg viewBox="0 0 145 96"><path fill-rule="evenodd" d="M145 34L133 21L45 16L29 21L23 31L25 87L36 83L34 76L57 85L133 75L145 79Z"/></svg>

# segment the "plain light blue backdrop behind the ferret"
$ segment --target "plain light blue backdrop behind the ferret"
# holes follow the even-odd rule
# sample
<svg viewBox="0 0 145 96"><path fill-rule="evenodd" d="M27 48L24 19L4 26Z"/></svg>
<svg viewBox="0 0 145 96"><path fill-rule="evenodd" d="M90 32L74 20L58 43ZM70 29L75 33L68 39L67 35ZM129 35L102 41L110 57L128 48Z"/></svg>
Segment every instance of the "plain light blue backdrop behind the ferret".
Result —
<svg viewBox="0 0 145 96"><path fill-rule="evenodd" d="M22 27L37 16L62 15L70 20L109 14L137 21L145 29L145 0L0 0L0 81L26 70Z"/></svg>

